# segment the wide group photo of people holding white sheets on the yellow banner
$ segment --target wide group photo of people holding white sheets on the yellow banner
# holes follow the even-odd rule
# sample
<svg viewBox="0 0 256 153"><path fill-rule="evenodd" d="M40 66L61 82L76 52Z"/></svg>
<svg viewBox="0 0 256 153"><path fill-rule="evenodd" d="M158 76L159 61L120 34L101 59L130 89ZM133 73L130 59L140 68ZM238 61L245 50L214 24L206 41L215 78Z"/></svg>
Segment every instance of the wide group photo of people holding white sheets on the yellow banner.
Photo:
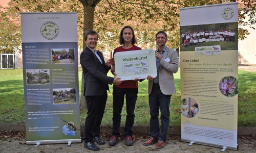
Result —
<svg viewBox="0 0 256 153"><path fill-rule="evenodd" d="M215 45L222 50L238 49L238 22L181 26L180 35L181 51Z"/></svg>

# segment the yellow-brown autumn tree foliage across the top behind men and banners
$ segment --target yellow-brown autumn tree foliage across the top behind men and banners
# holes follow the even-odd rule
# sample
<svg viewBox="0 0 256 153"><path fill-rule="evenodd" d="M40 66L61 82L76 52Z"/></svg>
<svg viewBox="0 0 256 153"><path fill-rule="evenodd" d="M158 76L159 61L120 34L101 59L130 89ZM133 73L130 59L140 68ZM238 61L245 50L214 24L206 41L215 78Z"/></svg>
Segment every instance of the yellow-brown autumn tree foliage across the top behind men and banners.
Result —
<svg viewBox="0 0 256 153"><path fill-rule="evenodd" d="M118 36L124 25L131 25L137 34L138 45L141 48L155 48L155 34L160 31L168 33L170 48L179 47L179 9L233 1L146 1L146 0L102 0L102 1L22 1L11 0L9 7L4 8L0 16L0 46L6 46L5 50L18 48L21 44L20 12L77 12L78 45L83 46L83 31L94 29L99 33L100 39L97 48L104 52L112 52L119 46ZM255 5L252 1L242 1L239 4L239 24L255 24ZM84 20L92 15L83 12L83 5L95 8L94 22L86 23ZM84 14L85 13L85 14ZM246 18L245 16L248 16ZM84 18L85 17L85 18ZM52 25L49 25L52 26ZM88 27L87 27L88 26ZM47 27L43 30L47 32ZM247 30L239 31L239 38L243 40L248 34Z"/></svg>

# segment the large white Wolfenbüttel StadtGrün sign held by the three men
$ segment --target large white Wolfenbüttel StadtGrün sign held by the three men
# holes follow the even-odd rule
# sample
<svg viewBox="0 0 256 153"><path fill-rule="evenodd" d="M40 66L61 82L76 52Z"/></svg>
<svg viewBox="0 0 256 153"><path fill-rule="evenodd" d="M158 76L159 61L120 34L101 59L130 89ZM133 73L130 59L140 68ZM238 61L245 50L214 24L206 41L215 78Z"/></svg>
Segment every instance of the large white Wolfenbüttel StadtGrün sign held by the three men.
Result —
<svg viewBox="0 0 256 153"><path fill-rule="evenodd" d="M157 77L154 49L132 50L115 53L115 70L121 80L146 79L148 75Z"/></svg>

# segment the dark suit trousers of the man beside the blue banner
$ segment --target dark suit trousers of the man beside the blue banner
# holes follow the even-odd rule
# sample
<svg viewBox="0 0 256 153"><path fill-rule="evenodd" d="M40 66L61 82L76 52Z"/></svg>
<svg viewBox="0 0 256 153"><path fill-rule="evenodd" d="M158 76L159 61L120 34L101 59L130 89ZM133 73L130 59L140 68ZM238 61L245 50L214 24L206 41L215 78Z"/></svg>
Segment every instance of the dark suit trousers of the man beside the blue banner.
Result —
<svg viewBox="0 0 256 153"><path fill-rule="evenodd" d="M85 139L84 142L93 142L93 137L99 136L100 123L105 111L106 98L108 95L105 91L100 96L86 96L87 103L87 117L85 126Z"/></svg>

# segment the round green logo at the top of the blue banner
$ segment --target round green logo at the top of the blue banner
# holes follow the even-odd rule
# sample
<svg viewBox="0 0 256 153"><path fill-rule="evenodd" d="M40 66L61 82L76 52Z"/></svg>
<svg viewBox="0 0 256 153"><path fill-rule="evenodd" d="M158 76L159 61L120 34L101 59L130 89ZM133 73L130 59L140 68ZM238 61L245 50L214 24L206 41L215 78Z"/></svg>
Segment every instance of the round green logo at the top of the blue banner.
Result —
<svg viewBox="0 0 256 153"><path fill-rule="evenodd" d="M59 27L55 22L47 21L42 24L40 32L45 39L53 40L59 35Z"/></svg>

